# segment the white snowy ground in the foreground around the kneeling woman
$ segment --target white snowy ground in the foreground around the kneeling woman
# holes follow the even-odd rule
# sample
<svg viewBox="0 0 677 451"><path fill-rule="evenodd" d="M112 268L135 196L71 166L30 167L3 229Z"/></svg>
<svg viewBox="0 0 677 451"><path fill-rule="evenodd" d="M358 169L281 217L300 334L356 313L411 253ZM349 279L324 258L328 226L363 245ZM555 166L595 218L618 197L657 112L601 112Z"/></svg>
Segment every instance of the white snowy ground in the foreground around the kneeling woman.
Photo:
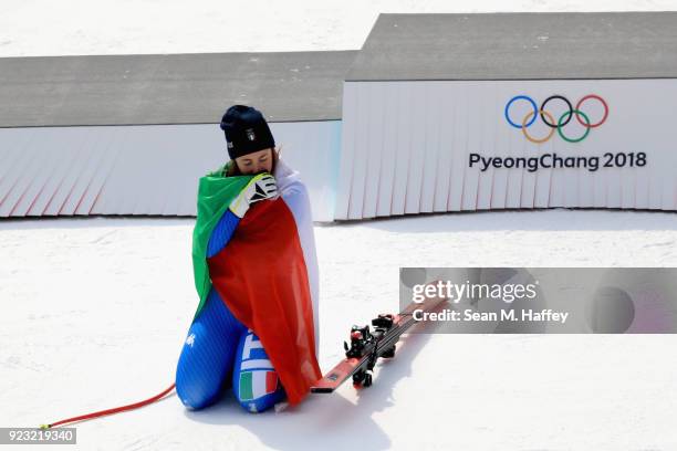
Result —
<svg viewBox="0 0 677 451"><path fill-rule="evenodd" d="M0 221L0 426L150 397L197 306L191 219ZM315 227L320 364L397 310L399 266L674 266L677 216L543 210ZM675 449L675 335L409 335L374 386L250 415L176 395L77 424L79 449ZM72 449L72 448L69 448Z"/></svg>

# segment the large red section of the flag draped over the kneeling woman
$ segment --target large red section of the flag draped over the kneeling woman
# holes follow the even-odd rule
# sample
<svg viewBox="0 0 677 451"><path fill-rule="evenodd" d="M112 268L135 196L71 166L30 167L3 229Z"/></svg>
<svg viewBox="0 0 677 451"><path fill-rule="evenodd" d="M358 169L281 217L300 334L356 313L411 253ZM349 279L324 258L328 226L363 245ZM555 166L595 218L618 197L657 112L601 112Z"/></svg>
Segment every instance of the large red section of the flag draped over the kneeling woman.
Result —
<svg viewBox="0 0 677 451"><path fill-rule="evenodd" d="M284 200L254 203L227 248L207 262L221 300L261 340L289 403L301 402L322 373L303 249Z"/></svg>

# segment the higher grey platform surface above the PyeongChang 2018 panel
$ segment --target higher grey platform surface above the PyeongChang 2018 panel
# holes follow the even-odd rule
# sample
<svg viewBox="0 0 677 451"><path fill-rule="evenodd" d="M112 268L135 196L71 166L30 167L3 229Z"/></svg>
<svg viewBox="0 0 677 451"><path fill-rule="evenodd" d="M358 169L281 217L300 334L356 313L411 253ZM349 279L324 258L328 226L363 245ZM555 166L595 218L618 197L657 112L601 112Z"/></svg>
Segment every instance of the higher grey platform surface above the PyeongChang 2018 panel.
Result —
<svg viewBox="0 0 677 451"><path fill-rule="evenodd" d="M381 14L346 81L677 77L677 12Z"/></svg>

